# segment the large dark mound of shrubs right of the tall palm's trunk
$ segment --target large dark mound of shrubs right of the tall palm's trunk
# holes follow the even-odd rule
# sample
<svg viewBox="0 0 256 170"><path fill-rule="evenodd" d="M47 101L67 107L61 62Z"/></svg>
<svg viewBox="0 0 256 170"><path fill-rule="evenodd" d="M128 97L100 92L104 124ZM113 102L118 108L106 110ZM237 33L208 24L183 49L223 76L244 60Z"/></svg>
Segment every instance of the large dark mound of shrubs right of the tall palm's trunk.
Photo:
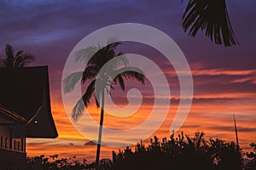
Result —
<svg viewBox="0 0 256 170"><path fill-rule="evenodd" d="M132 151L113 151L113 169L241 169L241 150L234 142L206 141L204 133L189 138L183 133L170 139L154 137L147 147L141 142Z"/></svg>

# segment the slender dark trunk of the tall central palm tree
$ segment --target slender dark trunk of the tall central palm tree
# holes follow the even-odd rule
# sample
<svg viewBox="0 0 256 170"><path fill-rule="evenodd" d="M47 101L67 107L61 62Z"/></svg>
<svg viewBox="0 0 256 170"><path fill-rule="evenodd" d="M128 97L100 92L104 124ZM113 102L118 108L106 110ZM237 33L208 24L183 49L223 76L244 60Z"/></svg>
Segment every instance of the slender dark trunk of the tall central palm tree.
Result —
<svg viewBox="0 0 256 170"><path fill-rule="evenodd" d="M96 150L96 170L99 169L100 163L100 153L101 153L101 146L102 146L102 126L103 126L103 119L104 119L104 88L102 90L102 110L101 110L101 120L100 120L100 127L99 127L99 136L98 136L98 144Z"/></svg>

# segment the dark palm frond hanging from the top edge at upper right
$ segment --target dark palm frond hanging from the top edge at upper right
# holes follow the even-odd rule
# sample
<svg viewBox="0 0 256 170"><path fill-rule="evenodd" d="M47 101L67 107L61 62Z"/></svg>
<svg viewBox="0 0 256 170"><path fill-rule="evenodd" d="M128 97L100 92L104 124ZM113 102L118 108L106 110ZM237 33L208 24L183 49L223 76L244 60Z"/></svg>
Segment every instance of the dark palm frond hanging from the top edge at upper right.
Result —
<svg viewBox="0 0 256 170"><path fill-rule="evenodd" d="M191 37L201 29L216 44L239 44L230 24L225 0L189 0L182 19L183 30L189 30Z"/></svg>

